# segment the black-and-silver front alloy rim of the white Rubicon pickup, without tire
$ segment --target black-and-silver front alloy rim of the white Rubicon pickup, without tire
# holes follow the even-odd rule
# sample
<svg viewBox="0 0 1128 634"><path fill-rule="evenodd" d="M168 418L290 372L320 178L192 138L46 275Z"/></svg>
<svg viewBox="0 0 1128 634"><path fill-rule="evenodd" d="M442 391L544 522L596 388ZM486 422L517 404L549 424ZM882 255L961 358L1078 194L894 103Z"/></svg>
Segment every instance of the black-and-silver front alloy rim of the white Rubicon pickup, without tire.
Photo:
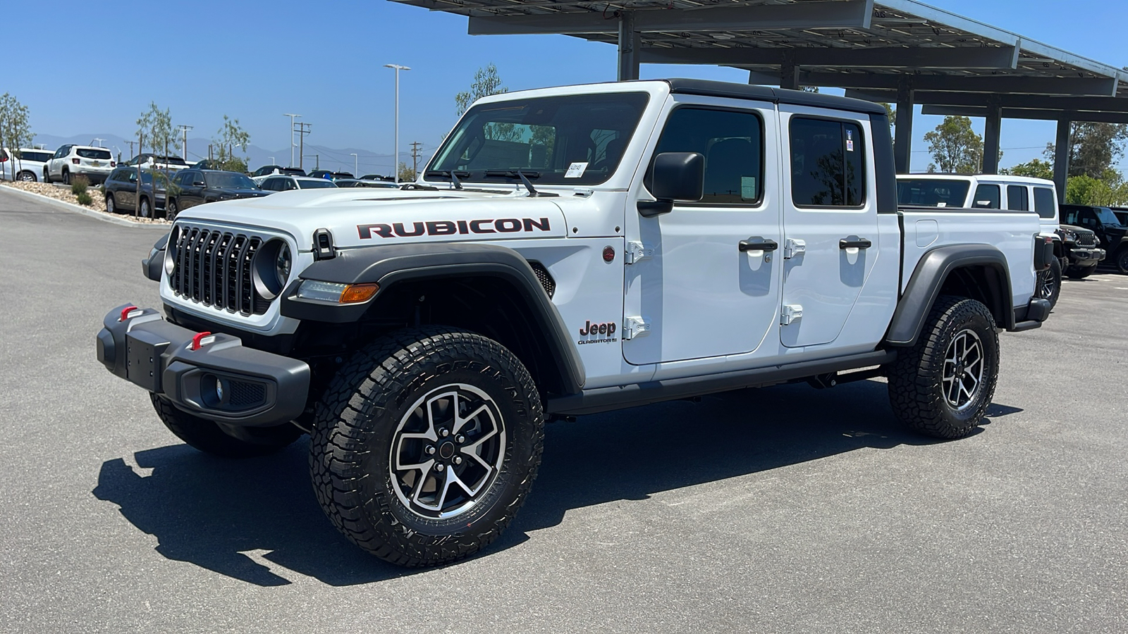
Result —
<svg viewBox="0 0 1128 634"><path fill-rule="evenodd" d="M485 391L467 384L431 390L407 410L391 439L388 470L396 496L425 519L469 511L501 470L506 435Z"/></svg>

